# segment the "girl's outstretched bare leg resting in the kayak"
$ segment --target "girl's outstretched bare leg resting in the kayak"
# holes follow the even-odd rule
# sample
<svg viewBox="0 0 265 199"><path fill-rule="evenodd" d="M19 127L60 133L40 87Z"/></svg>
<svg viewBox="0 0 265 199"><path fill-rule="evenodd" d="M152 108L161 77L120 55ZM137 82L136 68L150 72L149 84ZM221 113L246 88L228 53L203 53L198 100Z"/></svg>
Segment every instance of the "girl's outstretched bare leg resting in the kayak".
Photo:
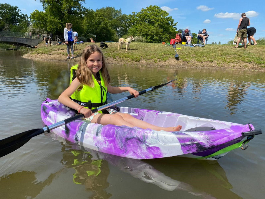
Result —
<svg viewBox="0 0 265 199"><path fill-rule="evenodd" d="M179 131L182 126L173 126L173 127L160 127L155 126L153 124L149 124L145 121L139 120L131 116L130 114L123 114L123 113L115 113L112 115L109 114L97 114L91 122L95 122L97 124L113 124L117 126L129 126L129 127L139 127L142 129L153 129L155 131Z"/></svg>

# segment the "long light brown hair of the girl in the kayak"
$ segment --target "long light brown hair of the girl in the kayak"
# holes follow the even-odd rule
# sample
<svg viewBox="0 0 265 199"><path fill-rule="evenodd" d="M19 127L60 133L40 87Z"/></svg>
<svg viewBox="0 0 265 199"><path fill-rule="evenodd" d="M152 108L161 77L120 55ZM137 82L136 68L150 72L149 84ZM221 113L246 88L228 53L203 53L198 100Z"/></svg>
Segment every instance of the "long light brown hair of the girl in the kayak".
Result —
<svg viewBox="0 0 265 199"><path fill-rule="evenodd" d="M78 67L77 67L77 70L75 71L75 74L80 83L84 85L88 85L90 87L94 87L93 73L87 67L87 59L94 52L99 52L101 54L102 68L100 70L101 70L105 85L107 86L110 83L110 74L107 69L105 57L102 51L100 50L100 48L97 47L96 45L89 45L85 47L85 49L82 52L81 59L78 63Z"/></svg>

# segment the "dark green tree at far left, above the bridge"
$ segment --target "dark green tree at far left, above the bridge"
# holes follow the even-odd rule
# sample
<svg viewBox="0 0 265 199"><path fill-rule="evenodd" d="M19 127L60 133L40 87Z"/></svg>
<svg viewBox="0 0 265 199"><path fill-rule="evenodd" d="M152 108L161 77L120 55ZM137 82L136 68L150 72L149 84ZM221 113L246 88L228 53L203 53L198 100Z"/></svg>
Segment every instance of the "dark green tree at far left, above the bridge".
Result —
<svg viewBox="0 0 265 199"><path fill-rule="evenodd" d="M17 6L0 4L0 30L26 32L29 26L27 14L20 13Z"/></svg>

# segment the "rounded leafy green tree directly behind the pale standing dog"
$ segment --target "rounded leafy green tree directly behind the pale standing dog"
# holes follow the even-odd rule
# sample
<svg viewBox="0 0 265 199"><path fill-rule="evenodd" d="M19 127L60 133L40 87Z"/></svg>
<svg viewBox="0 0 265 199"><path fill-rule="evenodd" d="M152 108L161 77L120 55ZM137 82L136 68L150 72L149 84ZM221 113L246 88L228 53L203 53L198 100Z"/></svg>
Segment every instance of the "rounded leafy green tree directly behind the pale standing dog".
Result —
<svg viewBox="0 0 265 199"><path fill-rule="evenodd" d="M131 27L128 34L141 36L147 42L160 43L175 38L176 24L168 12L159 6L149 6L128 16Z"/></svg>

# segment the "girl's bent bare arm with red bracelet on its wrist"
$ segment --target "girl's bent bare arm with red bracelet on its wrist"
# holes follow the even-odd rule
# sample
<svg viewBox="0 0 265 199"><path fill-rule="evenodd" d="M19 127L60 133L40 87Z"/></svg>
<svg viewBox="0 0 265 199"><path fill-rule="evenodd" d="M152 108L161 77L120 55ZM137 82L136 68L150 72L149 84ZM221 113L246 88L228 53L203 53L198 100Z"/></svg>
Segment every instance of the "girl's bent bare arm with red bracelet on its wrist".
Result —
<svg viewBox="0 0 265 199"><path fill-rule="evenodd" d="M84 114L85 117L89 117L92 114L92 111L89 108L82 108L82 106L78 103L75 103L70 99L70 96L80 87L82 83L75 78L72 83L65 89L62 94L59 96L58 101L69 108L73 108L80 113Z"/></svg>

